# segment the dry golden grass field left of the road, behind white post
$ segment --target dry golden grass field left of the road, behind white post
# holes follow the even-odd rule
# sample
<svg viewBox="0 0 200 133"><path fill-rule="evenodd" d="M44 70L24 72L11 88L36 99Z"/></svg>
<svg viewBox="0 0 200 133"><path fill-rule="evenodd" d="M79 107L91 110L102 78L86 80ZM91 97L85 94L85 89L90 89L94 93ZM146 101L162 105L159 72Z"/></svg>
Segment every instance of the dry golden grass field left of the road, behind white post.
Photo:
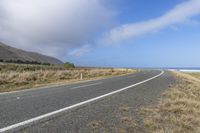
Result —
<svg viewBox="0 0 200 133"><path fill-rule="evenodd" d="M111 77L133 73L132 69L76 68L62 66L3 64L0 63L0 92L16 91L47 84Z"/></svg>

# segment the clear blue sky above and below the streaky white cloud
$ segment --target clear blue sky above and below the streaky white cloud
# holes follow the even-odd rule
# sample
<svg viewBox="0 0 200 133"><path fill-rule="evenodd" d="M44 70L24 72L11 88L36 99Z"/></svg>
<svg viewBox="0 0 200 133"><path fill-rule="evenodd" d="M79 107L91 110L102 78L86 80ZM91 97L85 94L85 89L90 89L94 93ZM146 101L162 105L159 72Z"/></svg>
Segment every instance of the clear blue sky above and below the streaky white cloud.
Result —
<svg viewBox="0 0 200 133"><path fill-rule="evenodd" d="M118 24L137 23L162 16L184 0L116 0ZM193 17L199 21L199 17ZM175 24L120 44L95 47L81 57L68 58L80 65L115 67L200 67L199 24Z"/></svg>

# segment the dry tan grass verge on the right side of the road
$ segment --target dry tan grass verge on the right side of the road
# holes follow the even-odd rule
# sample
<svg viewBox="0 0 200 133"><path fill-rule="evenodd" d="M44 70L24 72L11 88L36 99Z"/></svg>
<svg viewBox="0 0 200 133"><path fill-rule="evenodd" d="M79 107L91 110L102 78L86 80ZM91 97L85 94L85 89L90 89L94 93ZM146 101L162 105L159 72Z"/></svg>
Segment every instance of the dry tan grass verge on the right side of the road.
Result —
<svg viewBox="0 0 200 133"><path fill-rule="evenodd" d="M144 127L154 133L199 133L200 81L189 74L173 74L177 84L170 86L159 104L140 110Z"/></svg>

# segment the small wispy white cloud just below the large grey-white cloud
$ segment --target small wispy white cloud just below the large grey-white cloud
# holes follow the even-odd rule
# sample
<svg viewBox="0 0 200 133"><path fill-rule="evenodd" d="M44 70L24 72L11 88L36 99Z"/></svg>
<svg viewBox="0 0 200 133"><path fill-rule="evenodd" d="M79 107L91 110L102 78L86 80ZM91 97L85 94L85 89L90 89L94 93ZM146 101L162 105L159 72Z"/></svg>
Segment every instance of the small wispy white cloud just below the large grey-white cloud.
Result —
<svg viewBox="0 0 200 133"><path fill-rule="evenodd" d="M84 46L82 46L82 47L80 47L80 48L78 48L78 49L75 49L75 50L71 51L71 52L69 53L69 55L79 57L79 56L81 56L81 55L83 55L83 54L89 52L90 49L91 49L91 48L90 48L89 45L84 45Z"/></svg>

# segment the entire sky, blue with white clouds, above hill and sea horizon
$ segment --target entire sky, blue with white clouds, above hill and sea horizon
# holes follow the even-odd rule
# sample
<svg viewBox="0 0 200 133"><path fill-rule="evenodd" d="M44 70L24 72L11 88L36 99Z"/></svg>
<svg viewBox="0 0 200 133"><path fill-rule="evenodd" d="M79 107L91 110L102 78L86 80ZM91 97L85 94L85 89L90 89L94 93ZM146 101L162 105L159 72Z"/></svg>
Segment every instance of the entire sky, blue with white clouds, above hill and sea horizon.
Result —
<svg viewBox="0 0 200 133"><path fill-rule="evenodd" d="M200 67L200 0L1 0L0 41L78 66Z"/></svg>

